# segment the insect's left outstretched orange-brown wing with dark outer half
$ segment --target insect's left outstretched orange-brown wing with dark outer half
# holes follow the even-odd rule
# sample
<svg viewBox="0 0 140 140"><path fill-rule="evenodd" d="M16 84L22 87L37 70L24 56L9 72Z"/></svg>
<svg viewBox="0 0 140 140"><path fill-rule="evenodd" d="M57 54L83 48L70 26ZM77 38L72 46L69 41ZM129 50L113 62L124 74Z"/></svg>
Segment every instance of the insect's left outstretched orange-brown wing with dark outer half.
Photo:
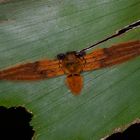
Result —
<svg viewBox="0 0 140 140"><path fill-rule="evenodd" d="M20 64L0 71L0 80L34 81L63 75L58 60L41 60Z"/></svg>

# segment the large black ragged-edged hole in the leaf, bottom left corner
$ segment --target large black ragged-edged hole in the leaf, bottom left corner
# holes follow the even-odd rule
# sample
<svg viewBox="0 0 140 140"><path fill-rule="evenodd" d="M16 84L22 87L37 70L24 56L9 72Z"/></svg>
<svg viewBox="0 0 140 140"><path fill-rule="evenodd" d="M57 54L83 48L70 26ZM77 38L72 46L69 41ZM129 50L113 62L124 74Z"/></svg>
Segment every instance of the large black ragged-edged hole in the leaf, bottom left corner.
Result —
<svg viewBox="0 0 140 140"><path fill-rule="evenodd" d="M31 140L34 130L30 126L32 114L24 107L0 106L0 134L5 139Z"/></svg>

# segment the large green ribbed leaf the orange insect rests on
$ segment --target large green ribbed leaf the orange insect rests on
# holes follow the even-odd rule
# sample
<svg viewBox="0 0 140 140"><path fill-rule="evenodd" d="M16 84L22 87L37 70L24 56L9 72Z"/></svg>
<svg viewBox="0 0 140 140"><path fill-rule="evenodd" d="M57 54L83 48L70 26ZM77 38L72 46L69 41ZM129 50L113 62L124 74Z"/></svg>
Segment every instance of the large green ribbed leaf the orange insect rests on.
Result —
<svg viewBox="0 0 140 140"><path fill-rule="evenodd" d="M139 20L139 0L2 0L0 68L81 50ZM98 47L140 38L131 30ZM65 76L37 82L0 81L0 105L22 105L37 140L99 140L140 117L140 58L85 72L73 96Z"/></svg>

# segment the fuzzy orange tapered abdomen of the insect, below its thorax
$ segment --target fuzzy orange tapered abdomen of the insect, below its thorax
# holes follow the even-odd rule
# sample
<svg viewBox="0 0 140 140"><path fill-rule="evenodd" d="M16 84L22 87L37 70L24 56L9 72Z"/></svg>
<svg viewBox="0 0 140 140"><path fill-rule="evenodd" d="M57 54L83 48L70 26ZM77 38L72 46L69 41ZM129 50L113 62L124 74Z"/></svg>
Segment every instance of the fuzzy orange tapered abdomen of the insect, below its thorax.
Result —
<svg viewBox="0 0 140 140"><path fill-rule="evenodd" d="M74 95L79 95L83 87L83 77L81 75L68 75L66 84Z"/></svg>

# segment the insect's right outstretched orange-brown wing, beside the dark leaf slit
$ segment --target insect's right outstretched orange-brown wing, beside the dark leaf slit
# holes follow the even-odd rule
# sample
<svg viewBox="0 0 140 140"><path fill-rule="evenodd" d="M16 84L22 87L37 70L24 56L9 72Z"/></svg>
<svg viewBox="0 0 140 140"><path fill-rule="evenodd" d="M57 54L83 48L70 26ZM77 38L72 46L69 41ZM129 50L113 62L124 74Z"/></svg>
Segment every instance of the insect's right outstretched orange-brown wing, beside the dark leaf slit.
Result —
<svg viewBox="0 0 140 140"><path fill-rule="evenodd" d="M132 41L102 48L85 56L83 71L121 64L140 55L140 41Z"/></svg>

